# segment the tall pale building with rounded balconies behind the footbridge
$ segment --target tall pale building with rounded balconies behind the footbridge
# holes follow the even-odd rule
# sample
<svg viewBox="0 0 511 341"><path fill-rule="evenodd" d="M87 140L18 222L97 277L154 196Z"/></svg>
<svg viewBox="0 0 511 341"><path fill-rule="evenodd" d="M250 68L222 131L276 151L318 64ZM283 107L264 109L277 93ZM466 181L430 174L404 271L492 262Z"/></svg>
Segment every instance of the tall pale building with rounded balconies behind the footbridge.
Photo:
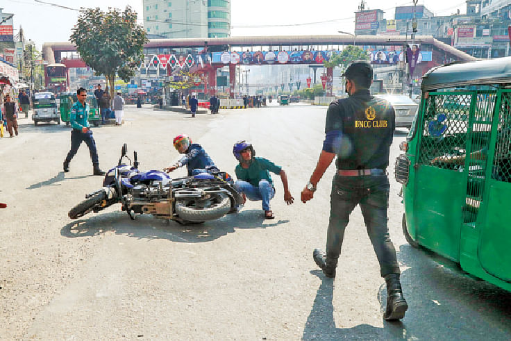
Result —
<svg viewBox="0 0 511 341"><path fill-rule="evenodd" d="M231 36L231 0L144 0L149 38Z"/></svg>

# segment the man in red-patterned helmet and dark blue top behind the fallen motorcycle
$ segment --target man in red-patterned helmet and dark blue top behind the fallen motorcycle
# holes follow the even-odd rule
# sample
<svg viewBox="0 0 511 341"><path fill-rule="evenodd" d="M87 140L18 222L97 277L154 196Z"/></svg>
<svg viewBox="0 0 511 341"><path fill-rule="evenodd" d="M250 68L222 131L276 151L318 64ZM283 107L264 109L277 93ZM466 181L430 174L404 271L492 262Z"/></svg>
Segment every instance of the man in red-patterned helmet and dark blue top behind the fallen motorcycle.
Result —
<svg viewBox="0 0 511 341"><path fill-rule="evenodd" d="M188 175L196 175L201 173L219 172L220 170L215 166L213 160L206 151L198 143L192 143L192 140L186 134L177 135L174 138L174 148L180 153L185 154L181 160L170 167L163 170L167 173L173 172L186 165Z"/></svg>

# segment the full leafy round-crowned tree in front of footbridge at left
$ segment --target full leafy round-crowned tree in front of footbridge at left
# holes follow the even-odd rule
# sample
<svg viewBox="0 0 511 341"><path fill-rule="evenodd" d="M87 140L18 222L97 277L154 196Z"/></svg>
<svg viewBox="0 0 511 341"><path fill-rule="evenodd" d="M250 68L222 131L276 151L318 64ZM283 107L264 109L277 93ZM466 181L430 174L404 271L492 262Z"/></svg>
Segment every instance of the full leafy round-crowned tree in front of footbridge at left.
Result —
<svg viewBox="0 0 511 341"><path fill-rule="evenodd" d="M103 74L110 85L113 98L115 75L128 82L135 69L144 60L144 43L148 42L142 26L137 25L137 13L126 6L121 12L110 8L82 9L69 40L76 45L80 57Z"/></svg>

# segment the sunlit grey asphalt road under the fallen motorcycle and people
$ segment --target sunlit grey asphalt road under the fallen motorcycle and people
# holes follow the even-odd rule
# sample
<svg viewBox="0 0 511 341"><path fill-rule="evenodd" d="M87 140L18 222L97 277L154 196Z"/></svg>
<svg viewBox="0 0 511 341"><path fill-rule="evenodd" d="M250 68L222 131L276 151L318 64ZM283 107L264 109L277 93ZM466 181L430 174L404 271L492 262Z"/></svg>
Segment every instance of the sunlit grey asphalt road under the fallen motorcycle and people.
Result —
<svg viewBox="0 0 511 341"><path fill-rule="evenodd" d="M275 103L272 103L275 104ZM162 169L187 133L215 163L234 172L237 140L288 174L295 203L283 201L274 176L276 219L260 202L237 215L181 226L151 216L131 221L120 206L72 221L67 212L101 187L85 144L62 172L69 128L19 119L17 138L0 140L0 339L23 340L510 340L511 294L439 265L401 232L403 208L393 180L389 231L398 251L410 309L383 322L385 285L355 208L335 281L312 260L324 248L330 166L315 198L300 191L324 138L326 107L271 106L190 115L126 108L124 126L93 128L103 169L122 143L140 169ZM184 169L175 172L185 174Z"/></svg>

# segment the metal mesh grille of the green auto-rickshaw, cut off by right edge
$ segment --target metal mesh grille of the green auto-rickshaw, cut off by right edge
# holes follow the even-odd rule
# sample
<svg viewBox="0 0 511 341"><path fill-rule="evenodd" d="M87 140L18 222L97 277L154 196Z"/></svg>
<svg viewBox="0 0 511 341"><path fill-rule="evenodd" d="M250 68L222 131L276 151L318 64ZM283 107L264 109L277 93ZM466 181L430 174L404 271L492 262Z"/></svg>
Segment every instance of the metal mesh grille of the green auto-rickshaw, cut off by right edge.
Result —
<svg viewBox="0 0 511 341"><path fill-rule="evenodd" d="M503 92L501 96L492 178L509 183L511 182L511 92Z"/></svg>

